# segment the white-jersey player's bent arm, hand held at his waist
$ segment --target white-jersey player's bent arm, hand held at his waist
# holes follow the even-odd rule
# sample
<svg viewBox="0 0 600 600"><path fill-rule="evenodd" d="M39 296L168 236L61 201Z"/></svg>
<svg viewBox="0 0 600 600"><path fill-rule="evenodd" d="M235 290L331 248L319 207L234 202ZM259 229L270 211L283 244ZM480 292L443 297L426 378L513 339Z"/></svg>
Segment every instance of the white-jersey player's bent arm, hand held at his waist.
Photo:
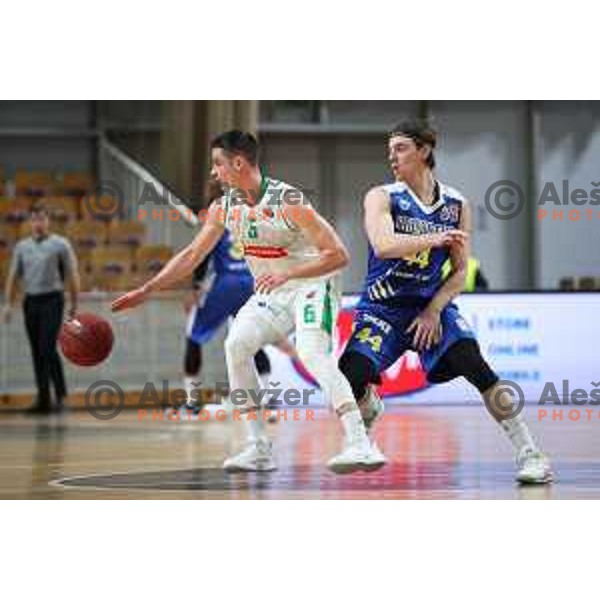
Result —
<svg viewBox="0 0 600 600"><path fill-rule="evenodd" d="M288 204L284 197L283 211L286 218L304 233L319 254L313 260L291 268L286 275L258 277L254 284L258 292L269 292L290 279L321 277L342 269L350 262L350 255L344 242L310 204Z"/></svg>

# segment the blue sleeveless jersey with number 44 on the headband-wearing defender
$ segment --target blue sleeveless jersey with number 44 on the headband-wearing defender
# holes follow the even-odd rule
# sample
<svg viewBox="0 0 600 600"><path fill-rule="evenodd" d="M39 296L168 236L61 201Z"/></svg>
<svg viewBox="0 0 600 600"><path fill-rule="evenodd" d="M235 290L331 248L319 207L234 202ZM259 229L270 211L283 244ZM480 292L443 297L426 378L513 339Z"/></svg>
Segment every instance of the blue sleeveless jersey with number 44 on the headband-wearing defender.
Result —
<svg viewBox="0 0 600 600"><path fill-rule="evenodd" d="M383 186L390 197L396 233L422 235L459 227L465 199L457 191L436 182L436 200L427 206L404 182ZM369 244L369 262L362 299L393 302L396 298L428 299L442 286L442 265L447 248L430 248L403 258L377 258Z"/></svg>

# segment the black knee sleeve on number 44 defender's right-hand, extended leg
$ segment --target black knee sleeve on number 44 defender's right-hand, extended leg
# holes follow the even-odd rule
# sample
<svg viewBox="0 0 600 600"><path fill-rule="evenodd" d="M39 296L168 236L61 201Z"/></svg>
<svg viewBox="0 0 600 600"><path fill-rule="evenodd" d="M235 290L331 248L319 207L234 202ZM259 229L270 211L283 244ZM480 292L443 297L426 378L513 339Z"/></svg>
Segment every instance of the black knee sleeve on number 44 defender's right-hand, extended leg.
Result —
<svg viewBox="0 0 600 600"><path fill-rule="evenodd" d="M455 377L464 377L481 393L495 385L499 377L481 355L479 344L473 339L452 344L428 373L430 383L445 383Z"/></svg>

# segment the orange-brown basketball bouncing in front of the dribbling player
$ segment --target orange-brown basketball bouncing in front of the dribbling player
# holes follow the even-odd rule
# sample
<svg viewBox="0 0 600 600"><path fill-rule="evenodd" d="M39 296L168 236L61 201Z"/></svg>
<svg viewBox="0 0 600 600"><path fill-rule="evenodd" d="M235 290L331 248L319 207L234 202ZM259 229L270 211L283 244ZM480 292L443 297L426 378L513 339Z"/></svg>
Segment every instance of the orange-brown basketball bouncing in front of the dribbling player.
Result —
<svg viewBox="0 0 600 600"><path fill-rule="evenodd" d="M80 367L93 367L106 360L114 342L110 323L91 313L81 313L66 321L58 336L65 357Z"/></svg>

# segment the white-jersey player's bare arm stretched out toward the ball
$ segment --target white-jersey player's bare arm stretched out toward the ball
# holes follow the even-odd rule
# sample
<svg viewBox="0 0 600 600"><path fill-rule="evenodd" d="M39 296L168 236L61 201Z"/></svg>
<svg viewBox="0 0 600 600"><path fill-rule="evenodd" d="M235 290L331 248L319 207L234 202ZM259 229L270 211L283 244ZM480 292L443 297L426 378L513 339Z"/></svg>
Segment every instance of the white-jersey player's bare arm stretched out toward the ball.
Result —
<svg viewBox="0 0 600 600"><path fill-rule="evenodd" d="M176 254L152 279L114 300L111 305L112 311L133 308L144 302L152 292L172 287L178 281L189 277L196 265L204 260L223 235L223 219L219 218L218 211L216 203L213 204L205 225L194 240Z"/></svg>

